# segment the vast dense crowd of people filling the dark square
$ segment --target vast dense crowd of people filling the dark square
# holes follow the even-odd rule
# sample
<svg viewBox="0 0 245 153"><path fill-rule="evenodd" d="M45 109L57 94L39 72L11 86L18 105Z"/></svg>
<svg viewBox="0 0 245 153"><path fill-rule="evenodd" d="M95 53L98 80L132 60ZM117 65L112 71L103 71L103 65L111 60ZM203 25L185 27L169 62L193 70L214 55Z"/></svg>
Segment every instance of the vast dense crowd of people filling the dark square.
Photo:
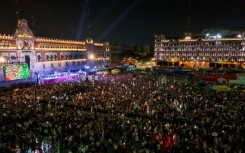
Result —
<svg viewBox="0 0 245 153"><path fill-rule="evenodd" d="M244 101L162 75L16 88L0 97L0 152L242 153Z"/></svg>

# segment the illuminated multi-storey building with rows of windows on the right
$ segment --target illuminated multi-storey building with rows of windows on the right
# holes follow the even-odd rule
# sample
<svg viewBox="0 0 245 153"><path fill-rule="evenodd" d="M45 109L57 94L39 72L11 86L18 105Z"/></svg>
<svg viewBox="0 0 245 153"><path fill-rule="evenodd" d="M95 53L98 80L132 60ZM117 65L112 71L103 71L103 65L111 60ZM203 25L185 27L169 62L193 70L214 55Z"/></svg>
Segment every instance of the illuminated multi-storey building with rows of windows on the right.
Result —
<svg viewBox="0 0 245 153"><path fill-rule="evenodd" d="M154 59L158 65L185 68L245 67L244 34L223 37L220 34L184 39L155 35Z"/></svg>

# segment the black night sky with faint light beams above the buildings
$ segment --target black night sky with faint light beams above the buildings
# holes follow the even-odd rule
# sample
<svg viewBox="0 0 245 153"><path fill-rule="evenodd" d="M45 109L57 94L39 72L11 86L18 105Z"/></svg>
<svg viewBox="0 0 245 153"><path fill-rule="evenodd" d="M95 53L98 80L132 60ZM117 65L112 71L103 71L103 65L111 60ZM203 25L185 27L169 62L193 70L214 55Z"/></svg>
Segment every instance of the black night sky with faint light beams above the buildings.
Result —
<svg viewBox="0 0 245 153"><path fill-rule="evenodd" d="M181 37L203 29L245 31L245 0L0 0L0 33L18 15L36 36L153 45L154 34Z"/></svg>

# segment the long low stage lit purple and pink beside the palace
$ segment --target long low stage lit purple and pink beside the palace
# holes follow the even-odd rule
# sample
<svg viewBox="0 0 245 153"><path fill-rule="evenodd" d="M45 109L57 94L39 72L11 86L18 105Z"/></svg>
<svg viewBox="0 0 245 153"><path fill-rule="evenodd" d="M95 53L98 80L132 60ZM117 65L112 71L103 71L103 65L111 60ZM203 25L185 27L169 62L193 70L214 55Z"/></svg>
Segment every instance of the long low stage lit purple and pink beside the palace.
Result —
<svg viewBox="0 0 245 153"><path fill-rule="evenodd" d="M42 79L42 84L50 84L50 83L59 83L59 82L70 82L78 80L80 77L79 74L68 74L65 76L59 76L59 77L46 77Z"/></svg>

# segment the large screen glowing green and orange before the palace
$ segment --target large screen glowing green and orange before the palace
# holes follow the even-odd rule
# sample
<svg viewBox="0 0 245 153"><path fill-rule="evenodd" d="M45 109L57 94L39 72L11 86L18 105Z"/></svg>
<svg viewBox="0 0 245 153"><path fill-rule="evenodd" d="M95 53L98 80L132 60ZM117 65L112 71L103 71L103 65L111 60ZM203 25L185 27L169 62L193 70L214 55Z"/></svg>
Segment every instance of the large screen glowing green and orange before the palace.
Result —
<svg viewBox="0 0 245 153"><path fill-rule="evenodd" d="M30 77L29 67L27 64L5 65L3 75L4 81L27 79Z"/></svg>

